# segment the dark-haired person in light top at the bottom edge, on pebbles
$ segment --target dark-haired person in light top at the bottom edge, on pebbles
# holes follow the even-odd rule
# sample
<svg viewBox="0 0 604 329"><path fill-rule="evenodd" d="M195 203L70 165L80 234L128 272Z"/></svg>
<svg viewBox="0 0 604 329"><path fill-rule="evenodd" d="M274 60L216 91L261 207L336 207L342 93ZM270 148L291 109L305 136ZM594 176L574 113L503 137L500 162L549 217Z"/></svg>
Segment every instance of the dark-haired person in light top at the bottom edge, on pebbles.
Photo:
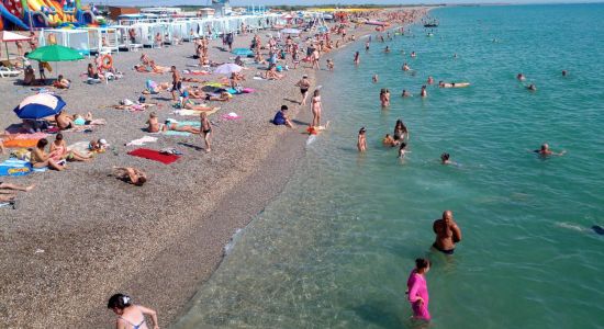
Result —
<svg viewBox="0 0 604 329"><path fill-rule="evenodd" d="M145 321L145 315L153 321L153 329L159 329L157 313L150 308L132 304L132 298L124 294L115 294L109 298L107 308L118 315L116 329L149 329Z"/></svg>

